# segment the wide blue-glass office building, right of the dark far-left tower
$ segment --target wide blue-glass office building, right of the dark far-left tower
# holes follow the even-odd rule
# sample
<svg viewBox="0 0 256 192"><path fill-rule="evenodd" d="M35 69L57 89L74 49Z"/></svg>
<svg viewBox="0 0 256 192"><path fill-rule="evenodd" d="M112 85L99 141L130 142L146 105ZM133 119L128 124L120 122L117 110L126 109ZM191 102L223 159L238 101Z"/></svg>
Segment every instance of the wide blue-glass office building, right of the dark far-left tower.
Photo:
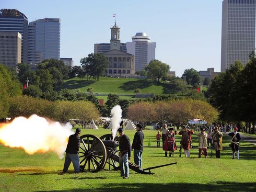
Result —
<svg viewBox="0 0 256 192"><path fill-rule="evenodd" d="M47 58L59 59L60 19L45 18L30 22L28 37L28 63L41 63Z"/></svg>

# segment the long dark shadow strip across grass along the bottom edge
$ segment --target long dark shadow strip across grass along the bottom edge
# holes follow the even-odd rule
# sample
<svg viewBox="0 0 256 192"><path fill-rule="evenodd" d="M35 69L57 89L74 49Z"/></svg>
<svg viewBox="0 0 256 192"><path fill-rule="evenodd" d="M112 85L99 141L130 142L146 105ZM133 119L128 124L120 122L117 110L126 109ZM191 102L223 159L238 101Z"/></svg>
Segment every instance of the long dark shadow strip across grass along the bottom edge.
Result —
<svg viewBox="0 0 256 192"><path fill-rule="evenodd" d="M87 179L87 178L86 178ZM58 190L58 192L255 192L256 183L222 182L203 183L131 183L123 182L108 183L104 186L92 189ZM50 191L36 191L50 192Z"/></svg>

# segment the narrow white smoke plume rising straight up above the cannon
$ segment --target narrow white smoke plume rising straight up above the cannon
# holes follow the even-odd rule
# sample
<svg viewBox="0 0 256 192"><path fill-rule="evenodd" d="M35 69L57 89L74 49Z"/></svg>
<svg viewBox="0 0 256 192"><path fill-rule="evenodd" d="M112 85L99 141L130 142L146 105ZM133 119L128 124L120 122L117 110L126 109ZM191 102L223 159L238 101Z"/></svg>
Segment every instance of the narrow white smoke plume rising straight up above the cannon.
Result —
<svg viewBox="0 0 256 192"><path fill-rule="evenodd" d="M122 121L122 111L123 110L121 109L120 105L116 105L111 109L111 114L112 114L111 128L112 128L113 139L115 139L117 129L120 127L120 123Z"/></svg>

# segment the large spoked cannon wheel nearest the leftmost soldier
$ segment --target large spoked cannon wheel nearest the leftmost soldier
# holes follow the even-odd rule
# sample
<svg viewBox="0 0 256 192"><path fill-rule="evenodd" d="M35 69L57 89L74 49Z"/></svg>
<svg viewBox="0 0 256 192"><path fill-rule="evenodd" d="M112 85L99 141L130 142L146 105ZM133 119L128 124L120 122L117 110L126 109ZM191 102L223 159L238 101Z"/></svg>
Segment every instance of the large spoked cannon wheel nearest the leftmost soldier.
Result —
<svg viewBox="0 0 256 192"><path fill-rule="evenodd" d="M83 135L80 139L80 170L98 172L103 169L107 153L102 140L93 135Z"/></svg>

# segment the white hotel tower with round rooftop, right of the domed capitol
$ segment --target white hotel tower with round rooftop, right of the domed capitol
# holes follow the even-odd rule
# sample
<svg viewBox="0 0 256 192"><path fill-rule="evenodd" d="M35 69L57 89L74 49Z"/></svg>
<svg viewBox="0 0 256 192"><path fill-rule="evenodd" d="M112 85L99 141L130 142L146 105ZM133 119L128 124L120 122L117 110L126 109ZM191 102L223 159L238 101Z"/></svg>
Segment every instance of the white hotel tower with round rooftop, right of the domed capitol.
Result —
<svg viewBox="0 0 256 192"><path fill-rule="evenodd" d="M144 70L149 62L155 59L156 42L150 42L145 33L137 33L132 42L126 43L127 53L134 55L135 71Z"/></svg>

